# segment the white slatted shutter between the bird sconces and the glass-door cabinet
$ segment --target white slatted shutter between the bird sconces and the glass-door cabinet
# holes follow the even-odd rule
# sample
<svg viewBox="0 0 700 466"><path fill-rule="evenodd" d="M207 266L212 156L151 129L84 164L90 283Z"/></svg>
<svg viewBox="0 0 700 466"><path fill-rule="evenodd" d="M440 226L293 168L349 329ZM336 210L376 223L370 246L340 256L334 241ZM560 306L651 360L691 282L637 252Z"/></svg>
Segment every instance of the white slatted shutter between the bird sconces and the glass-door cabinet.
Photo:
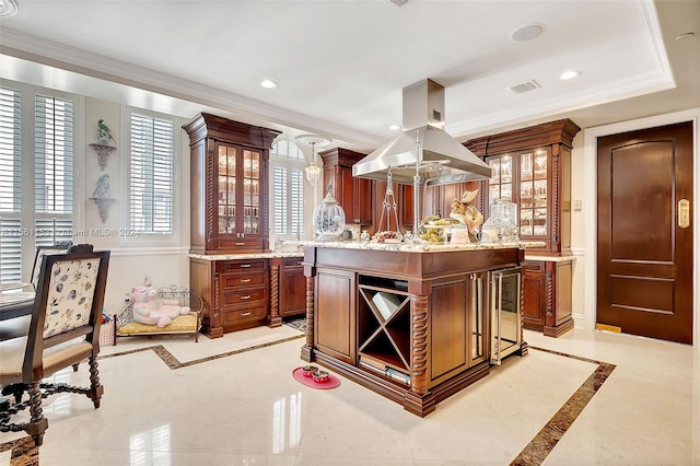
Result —
<svg viewBox="0 0 700 466"><path fill-rule="evenodd" d="M174 124L131 114L129 225L140 233L173 233Z"/></svg>

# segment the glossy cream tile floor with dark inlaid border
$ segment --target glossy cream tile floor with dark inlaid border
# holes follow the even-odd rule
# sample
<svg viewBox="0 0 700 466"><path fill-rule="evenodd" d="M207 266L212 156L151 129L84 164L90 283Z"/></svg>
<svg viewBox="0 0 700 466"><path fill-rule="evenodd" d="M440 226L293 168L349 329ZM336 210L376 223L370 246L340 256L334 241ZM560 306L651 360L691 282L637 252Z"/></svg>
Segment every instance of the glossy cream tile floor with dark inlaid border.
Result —
<svg viewBox="0 0 700 466"><path fill-rule="evenodd" d="M324 391L296 382L301 337L282 326L121 339L101 353L100 409L45 400L39 464L700 465L700 351L688 346L526 330L527 356L420 419L343 377ZM22 436L0 434L0 466Z"/></svg>

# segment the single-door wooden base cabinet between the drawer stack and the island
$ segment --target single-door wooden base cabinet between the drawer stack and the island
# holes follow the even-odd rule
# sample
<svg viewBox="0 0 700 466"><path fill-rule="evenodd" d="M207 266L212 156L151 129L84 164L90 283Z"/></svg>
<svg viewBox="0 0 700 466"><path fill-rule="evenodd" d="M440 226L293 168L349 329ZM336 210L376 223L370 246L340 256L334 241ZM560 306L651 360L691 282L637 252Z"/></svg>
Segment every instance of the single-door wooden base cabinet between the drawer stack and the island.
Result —
<svg viewBox="0 0 700 466"><path fill-rule="evenodd" d="M306 277L302 257L278 257L269 260L270 313L268 325L277 327L282 318L306 312Z"/></svg>

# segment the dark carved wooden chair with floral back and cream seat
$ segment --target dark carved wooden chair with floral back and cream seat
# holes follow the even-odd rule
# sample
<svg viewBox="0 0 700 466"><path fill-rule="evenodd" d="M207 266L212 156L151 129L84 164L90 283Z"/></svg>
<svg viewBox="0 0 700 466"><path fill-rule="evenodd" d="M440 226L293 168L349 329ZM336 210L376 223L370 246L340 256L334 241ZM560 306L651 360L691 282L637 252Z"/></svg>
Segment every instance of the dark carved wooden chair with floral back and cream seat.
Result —
<svg viewBox="0 0 700 466"><path fill-rule="evenodd" d="M27 336L0 342L0 385L23 384L28 394L24 401L0 404L1 432L25 431L40 445L48 428L42 398L55 393L84 394L100 408L104 388L97 353L108 265L109 252L93 252L88 244L44 256ZM90 368L89 387L42 382L84 359ZM30 421L12 422L12 416L27 407Z"/></svg>

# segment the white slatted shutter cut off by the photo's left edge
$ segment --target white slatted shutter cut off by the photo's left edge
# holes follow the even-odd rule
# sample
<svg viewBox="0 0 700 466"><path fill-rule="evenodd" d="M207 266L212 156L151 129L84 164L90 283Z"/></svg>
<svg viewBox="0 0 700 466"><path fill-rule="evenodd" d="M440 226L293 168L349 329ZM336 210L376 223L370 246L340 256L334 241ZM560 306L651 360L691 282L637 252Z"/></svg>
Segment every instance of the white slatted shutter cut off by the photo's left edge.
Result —
<svg viewBox="0 0 700 466"><path fill-rule="evenodd" d="M0 88L0 282L18 282L21 252L21 101Z"/></svg>

